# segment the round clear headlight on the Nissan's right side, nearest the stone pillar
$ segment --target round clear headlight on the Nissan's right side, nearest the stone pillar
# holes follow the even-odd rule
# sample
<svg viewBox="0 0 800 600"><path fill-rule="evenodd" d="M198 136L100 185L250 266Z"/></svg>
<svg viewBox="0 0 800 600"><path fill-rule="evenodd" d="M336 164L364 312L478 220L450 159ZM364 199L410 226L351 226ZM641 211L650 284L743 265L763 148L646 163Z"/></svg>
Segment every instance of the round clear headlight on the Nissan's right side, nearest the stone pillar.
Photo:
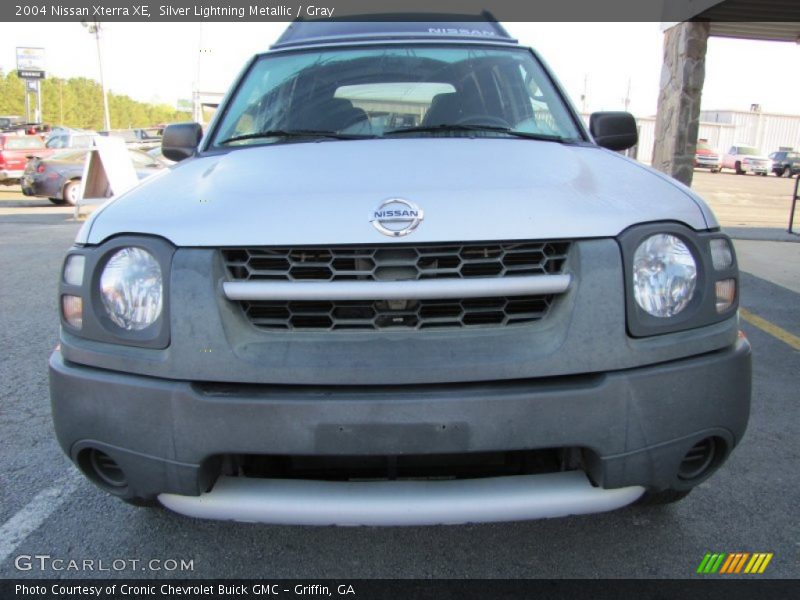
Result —
<svg viewBox="0 0 800 600"><path fill-rule="evenodd" d="M697 264L689 248L674 235L646 238L633 255L636 304L654 317L680 313L694 296Z"/></svg>

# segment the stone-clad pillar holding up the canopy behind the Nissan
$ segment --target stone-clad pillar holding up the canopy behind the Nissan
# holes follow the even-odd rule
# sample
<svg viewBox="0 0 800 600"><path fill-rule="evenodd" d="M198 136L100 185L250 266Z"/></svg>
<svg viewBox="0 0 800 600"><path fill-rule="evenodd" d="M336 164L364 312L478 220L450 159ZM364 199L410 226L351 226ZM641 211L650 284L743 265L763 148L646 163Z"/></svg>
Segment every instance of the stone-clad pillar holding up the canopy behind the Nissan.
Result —
<svg viewBox="0 0 800 600"><path fill-rule="evenodd" d="M687 22L664 33L652 165L686 185L692 183L708 31L708 23Z"/></svg>

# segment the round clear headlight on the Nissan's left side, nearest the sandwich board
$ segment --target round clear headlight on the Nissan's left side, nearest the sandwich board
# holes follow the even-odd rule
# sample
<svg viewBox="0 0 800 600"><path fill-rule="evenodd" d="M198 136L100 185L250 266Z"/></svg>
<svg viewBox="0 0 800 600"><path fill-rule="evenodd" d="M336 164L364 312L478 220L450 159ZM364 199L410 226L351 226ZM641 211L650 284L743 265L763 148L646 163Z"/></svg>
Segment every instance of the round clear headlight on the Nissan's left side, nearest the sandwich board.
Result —
<svg viewBox="0 0 800 600"><path fill-rule="evenodd" d="M161 267L147 250L121 248L103 268L100 296L109 318L126 331L141 331L161 315Z"/></svg>

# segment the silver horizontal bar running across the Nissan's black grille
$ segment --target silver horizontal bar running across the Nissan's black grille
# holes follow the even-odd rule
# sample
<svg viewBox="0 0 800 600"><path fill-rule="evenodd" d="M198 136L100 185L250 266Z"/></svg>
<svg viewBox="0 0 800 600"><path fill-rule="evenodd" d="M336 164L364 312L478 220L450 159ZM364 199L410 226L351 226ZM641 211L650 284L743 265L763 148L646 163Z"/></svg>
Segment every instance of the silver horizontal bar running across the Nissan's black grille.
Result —
<svg viewBox="0 0 800 600"><path fill-rule="evenodd" d="M563 294L570 275L416 281L226 281L229 300L433 300Z"/></svg>

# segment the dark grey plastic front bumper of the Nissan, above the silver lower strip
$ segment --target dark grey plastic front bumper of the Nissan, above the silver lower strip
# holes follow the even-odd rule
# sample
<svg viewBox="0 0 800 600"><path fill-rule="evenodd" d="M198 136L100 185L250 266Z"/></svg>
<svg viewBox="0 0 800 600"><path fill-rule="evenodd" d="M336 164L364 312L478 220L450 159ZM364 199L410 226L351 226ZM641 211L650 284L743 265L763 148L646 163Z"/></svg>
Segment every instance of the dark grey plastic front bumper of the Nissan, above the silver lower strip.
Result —
<svg viewBox="0 0 800 600"><path fill-rule="evenodd" d="M403 455L580 447L606 489L685 489L678 465L698 441L744 434L750 347L615 371L527 380L395 386L192 383L50 359L58 440L73 461L95 448L126 496L197 496L214 457ZM722 457L722 458L724 458ZM717 465L718 466L718 465Z"/></svg>

